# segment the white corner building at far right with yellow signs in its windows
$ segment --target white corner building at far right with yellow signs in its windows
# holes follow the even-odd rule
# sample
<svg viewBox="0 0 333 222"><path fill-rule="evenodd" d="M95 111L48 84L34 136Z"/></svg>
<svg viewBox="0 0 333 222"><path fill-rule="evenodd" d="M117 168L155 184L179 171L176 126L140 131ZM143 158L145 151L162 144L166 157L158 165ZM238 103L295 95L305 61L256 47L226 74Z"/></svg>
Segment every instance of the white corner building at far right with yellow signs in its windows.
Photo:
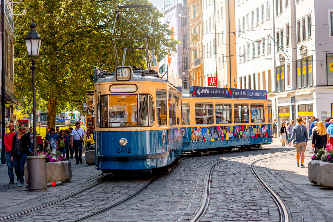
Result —
<svg viewBox="0 0 333 222"><path fill-rule="evenodd" d="M309 126L312 115L325 122L333 111L332 1L274 0L274 8L279 125L302 116Z"/></svg>

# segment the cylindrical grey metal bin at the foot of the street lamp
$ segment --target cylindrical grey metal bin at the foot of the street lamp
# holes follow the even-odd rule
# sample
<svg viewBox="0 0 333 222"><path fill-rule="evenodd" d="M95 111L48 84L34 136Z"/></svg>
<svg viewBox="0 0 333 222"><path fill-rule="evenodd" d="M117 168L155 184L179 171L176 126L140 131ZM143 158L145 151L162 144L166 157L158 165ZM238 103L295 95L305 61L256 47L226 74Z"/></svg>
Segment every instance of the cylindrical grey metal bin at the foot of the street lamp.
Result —
<svg viewBox="0 0 333 222"><path fill-rule="evenodd" d="M45 156L27 156L29 191L47 190Z"/></svg>

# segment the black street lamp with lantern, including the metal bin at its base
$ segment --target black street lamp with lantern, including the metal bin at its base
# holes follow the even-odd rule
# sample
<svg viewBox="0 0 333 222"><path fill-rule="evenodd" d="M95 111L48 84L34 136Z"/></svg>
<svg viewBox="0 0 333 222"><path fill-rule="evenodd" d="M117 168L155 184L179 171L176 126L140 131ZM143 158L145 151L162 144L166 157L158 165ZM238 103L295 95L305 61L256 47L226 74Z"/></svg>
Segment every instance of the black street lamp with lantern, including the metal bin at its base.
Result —
<svg viewBox="0 0 333 222"><path fill-rule="evenodd" d="M38 156L37 153L37 125L36 125L36 79L35 72L37 67L34 57L39 56L39 50L42 44L42 38L36 32L36 24L34 20L30 25L31 31L24 38L25 45L27 47L27 53L31 61L30 69L32 71L32 113L33 113L33 156L27 157L28 162L28 182L29 191L44 191L47 190L47 179L46 179L46 163L45 156Z"/></svg>

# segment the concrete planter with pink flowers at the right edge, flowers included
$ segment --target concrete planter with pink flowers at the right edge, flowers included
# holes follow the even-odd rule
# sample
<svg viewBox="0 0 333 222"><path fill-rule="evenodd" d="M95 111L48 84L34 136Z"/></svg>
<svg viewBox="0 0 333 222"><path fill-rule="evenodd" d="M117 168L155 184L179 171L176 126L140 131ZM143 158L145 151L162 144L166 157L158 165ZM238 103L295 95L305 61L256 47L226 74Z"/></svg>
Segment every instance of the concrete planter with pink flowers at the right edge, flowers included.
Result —
<svg viewBox="0 0 333 222"><path fill-rule="evenodd" d="M309 162L309 181L322 187L333 188L333 145L327 144L317 151Z"/></svg>

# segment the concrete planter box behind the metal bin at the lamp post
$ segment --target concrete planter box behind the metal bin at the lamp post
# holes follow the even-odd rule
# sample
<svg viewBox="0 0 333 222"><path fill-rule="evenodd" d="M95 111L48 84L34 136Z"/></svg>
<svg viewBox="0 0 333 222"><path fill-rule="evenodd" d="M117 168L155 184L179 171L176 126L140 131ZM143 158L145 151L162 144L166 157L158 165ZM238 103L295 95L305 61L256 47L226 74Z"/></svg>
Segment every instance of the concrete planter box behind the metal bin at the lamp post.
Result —
<svg viewBox="0 0 333 222"><path fill-rule="evenodd" d="M25 181L28 181L28 168L24 167ZM69 181L72 179L72 166L70 161L46 163L47 182Z"/></svg>

